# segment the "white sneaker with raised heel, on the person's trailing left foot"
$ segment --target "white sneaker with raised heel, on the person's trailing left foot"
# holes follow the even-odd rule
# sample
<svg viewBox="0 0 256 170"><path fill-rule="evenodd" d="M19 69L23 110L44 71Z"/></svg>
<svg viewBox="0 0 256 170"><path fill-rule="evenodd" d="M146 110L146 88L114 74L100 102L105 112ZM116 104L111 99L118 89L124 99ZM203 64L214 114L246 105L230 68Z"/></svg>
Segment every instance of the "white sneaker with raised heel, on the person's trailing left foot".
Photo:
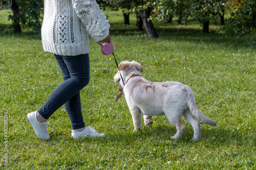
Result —
<svg viewBox="0 0 256 170"><path fill-rule="evenodd" d="M28 119L30 124L32 125L35 134L42 140L48 140L50 138L48 132L47 132L47 124L48 121L46 120L46 122L44 123L40 123L38 122L37 118L36 118L36 114L37 111L35 112L31 112L28 114Z"/></svg>

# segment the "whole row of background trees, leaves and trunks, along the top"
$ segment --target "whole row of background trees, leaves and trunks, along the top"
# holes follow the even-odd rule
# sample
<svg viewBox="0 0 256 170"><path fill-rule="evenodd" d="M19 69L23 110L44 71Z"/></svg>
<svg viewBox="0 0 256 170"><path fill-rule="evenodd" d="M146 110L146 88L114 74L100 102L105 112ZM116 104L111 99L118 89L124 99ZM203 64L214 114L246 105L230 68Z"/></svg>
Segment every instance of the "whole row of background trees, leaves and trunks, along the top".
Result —
<svg viewBox="0 0 256 170"><path fill-rule="evenodd" d="M152 20L187 25L189 20L199 20L202 31L209 32L211 22L220 20L221 34L243 35L256 29L255 0L96 0L102 9L121 10L124 24L129 25L129 15L137 16L138 31L145 30L148 37L157 38L158 34ZM12 3L14 33L20 33L20 23L40 32L43 0L0 0L0 5ZM224 18L225 16L225 18ZM144 29L142 28L142 24Z"/></svg>

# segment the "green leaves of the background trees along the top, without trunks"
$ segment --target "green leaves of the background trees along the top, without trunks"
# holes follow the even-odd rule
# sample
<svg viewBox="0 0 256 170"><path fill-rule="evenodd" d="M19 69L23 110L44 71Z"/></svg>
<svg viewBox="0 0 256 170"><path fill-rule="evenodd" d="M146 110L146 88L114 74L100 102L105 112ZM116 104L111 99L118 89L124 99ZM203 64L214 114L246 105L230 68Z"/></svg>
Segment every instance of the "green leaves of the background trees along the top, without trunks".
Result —
<svg viewBox="0 0 256 170"><path fill-rule="evenodd" d="M239 2L240 5L238 5ZM7 5L8 3L8 0L0 0L1 5ZM20 8L19 14L10 15L9 19L13 20L18 17L17 22L32 27L35 32L39 33L44 2L42 0L16 0L16 3ZM215 21L221 11L224 14L223 11L227 10L229 15L225 21L226 25L218 31L219 33L242 36L246 31L255 30L256 28L256 2L254 0L97 0L97 3L102 9L121 9L124 13L138 14L140 10L152 9L151 16L148 19L159 21L166 20L170 16L179 16L181 13L183 16L190 16L191 19L199 20L200 22Z"/></svg>

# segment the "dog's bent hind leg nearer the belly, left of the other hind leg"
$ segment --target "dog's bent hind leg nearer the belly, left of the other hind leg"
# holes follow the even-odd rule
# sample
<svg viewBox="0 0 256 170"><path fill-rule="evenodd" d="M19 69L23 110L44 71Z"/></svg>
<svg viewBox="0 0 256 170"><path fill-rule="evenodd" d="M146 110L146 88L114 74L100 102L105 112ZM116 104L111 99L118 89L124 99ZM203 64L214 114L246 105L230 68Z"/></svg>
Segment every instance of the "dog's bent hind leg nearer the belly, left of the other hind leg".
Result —
<svg viewBox="0 0 256 170"><path fill-rule="evenodd" d="M176 134L174 136L171 136L170 138L179 139L183 135L183 133L186 129L185 125L181 122L180 116L175 113L168 113L165 115L168 118L169 122L172 125L174 125L177 129Z"/></svg>

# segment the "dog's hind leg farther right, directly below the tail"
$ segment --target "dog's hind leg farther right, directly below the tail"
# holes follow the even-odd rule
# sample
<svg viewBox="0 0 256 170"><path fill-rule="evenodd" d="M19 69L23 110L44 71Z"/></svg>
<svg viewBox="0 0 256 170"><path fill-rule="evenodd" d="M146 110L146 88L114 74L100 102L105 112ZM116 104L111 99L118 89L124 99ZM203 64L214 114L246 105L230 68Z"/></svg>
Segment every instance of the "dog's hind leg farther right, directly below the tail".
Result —
<svg viewBox="0 0 256 170"><path fill-rule="evenodd" d="M186 109L183 113L183 116L187 120L189 124L191 124L193 130L194 130L194 139L195 140L200 140L201 138L201 128L200 128L200 123L198 120L191 114L189 109Z"/></svg>

